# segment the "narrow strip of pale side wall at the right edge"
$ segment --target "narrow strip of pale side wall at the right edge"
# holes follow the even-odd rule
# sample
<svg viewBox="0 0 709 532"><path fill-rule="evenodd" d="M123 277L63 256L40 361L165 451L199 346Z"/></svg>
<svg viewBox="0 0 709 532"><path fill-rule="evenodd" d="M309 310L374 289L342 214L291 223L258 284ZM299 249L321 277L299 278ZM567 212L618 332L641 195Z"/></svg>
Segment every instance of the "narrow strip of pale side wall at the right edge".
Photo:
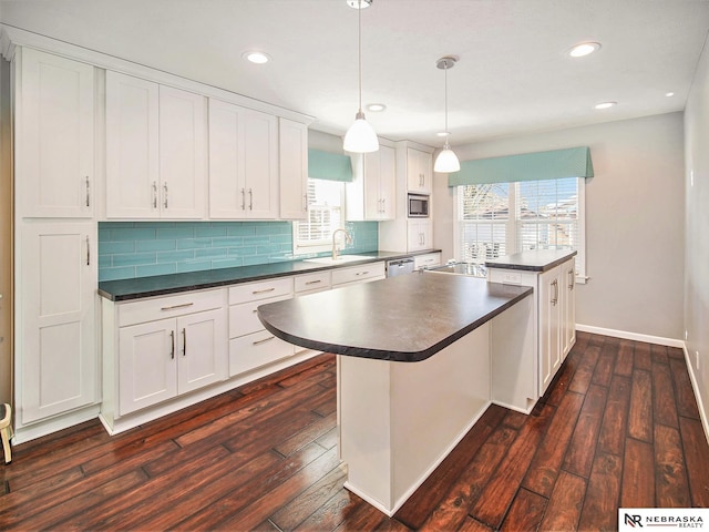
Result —
<svg viewBox="0 0 709 532"><path fill-rule="evenodd" d="M709 50L685 110L685 323L697 400L709 413ZM709 427L705 424L709 433Z"/></svg>

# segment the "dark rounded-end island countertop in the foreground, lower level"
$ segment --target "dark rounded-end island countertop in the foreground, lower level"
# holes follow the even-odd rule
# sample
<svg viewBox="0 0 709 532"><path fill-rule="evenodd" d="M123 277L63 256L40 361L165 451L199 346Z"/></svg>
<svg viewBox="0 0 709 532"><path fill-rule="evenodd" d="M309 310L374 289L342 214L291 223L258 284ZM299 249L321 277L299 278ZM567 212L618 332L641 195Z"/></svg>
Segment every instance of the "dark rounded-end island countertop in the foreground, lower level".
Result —
<svg viewBox="0 0 709 532"><path fill-rule="evenodd" d="M525 286L414 273L258 307L278 338L379 360L425 360L532 294Z"/></svg>

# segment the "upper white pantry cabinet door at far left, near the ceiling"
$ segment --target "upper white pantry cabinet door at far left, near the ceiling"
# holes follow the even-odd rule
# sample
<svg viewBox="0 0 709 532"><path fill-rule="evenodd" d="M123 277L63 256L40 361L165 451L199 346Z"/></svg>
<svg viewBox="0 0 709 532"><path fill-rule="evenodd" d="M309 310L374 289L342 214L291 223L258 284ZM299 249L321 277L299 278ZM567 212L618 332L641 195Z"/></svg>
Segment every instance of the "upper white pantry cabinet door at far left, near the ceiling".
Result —
<svg viewBox="0 0 709 532"><path fill-rule="evenodd" d="M16 146L21 216L93 216L93 66L21 50Z"/></svg>

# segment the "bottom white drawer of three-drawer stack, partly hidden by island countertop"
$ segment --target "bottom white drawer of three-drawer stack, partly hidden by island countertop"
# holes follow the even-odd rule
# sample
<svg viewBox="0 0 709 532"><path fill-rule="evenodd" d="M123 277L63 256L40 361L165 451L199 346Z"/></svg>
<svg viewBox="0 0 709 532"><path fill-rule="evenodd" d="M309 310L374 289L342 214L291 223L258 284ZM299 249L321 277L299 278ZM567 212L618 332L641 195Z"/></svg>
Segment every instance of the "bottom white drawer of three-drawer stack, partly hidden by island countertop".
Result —
<svg viewBox="0 0 709 532"><path fill-rule="evenodd" d="M294 346L267 330L229 340L229 377L294 355Z"/></svg>

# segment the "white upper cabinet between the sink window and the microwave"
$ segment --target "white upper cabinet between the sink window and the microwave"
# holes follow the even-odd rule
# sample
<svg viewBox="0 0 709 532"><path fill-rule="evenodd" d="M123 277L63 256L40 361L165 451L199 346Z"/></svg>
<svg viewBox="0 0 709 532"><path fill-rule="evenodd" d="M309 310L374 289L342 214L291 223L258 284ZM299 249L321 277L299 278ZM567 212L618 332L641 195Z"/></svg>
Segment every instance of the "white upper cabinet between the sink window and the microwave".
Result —
<svg viewBox="0 0 709 532"><path fill-rule="evenodd" d="M352 154L354 178L347 184L347 219L383 221L395 217L394 149L379 145L377 152Z"/></svg>

